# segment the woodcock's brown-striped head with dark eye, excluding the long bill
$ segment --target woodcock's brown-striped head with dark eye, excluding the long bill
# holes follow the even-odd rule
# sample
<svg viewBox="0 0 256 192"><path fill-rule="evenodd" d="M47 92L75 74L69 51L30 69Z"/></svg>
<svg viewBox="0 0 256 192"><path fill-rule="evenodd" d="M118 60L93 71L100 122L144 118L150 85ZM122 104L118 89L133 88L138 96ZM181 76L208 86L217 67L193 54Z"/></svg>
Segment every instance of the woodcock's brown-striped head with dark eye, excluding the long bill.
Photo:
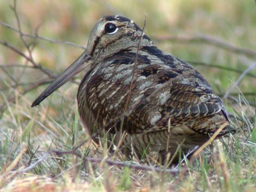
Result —
<svg viewBox="0 0 256 192"><path fill-rule="evenodd" d="M124 49L136 49L140 39L141 45L152 44L133 20L119 15L105 16L93 26L88 40L87 54L95 60Z"/></svg>

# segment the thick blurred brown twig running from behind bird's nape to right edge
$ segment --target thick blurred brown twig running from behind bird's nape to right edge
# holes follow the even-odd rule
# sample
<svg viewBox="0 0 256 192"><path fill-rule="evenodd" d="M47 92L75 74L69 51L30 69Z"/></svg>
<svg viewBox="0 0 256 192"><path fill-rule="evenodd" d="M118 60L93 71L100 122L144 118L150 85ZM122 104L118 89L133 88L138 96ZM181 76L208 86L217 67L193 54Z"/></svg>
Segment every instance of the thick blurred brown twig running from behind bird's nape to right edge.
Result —
<svg viewBox="0 0 256 192"><path fill-rule="evenodd" d="M236 47L232 44L224 42L220 38L216 38L216 37L208 36L208 35L198 35L198 36L172 36L172 35L164 36L164 35L162 35L162 36L155 36L154 39L159 40L159 41L170 40L172 42L179 42L179 43L211 44L216 47L226 49L228 51L236 52L237 54L245 54L246 56L256 58L256 51L253 51L252 49Z"/></svg>

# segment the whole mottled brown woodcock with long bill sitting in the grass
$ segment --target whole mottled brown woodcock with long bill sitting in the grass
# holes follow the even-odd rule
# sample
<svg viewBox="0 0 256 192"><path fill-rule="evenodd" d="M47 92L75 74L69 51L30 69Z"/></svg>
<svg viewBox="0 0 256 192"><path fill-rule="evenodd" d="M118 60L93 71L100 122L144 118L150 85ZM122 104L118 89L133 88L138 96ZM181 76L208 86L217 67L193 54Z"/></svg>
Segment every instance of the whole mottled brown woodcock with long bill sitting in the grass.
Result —
<svg viewBox="0 0 256 192"><path fill-rule="evenodd" d="M107 138L109 146L128 158L166 163L173 157L177 163L179 149L187 154L225 123L218 136L228 132L225 106L205 78L118 15L97 21L86 51L32 107L85 67L89 70L77 92L83 125L95 142Z"/></svg>

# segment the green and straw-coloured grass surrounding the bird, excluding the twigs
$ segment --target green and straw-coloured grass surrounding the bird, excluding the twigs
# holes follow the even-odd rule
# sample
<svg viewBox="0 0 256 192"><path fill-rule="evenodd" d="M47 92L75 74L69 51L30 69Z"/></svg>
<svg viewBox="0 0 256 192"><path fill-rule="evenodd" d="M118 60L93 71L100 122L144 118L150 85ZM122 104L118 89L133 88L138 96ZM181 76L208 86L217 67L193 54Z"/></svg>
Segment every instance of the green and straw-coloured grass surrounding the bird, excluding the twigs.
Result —
<svg viewBox="0 0 256 192"><path fill-rule="evenodd" d="M17 29L17 17L0 2L1 22ZM32 8L31 8L32 7ZM86 45L88 33L102 15L120 13L143 26L158 47L195 66L219 95L232 88L256 57L232 52L203 42L158 40L161 36L209 35L236 47L255 51L256 4L254 1L17 1L17 15L24 33L52 40ZM6 41L52 74L61 72L83 51L81 48L23 37L0 26L0 41ZM196 65L199 63L200 65ZM68 83L38 108L31 102L47 84L31 88L46 78L42 70L6 46L0 47L0 191L255 191L256 190L256 69L243 76L223 99L236 133L212 142L193 163L179 166L179 173L140 170L83 161L75 154L45 152L77 148L82 156L106 160L108 148L90 141L79 120L77 84ZM3 67L4 65L4 67ZM17 67L21 65L21 67ZM81 74L83 76L83 74ZM81 76L78 79L81 79ZM79 80L76 80L79 82ZM236 100L234 100L236 99ZM43 158L44 157L44 158ZM111 157L116 161L122 157ZM38 160L40 163L35 164ZM30 170L25 170L33 166ZM186 171L184 171L184 168Z"/></svg>

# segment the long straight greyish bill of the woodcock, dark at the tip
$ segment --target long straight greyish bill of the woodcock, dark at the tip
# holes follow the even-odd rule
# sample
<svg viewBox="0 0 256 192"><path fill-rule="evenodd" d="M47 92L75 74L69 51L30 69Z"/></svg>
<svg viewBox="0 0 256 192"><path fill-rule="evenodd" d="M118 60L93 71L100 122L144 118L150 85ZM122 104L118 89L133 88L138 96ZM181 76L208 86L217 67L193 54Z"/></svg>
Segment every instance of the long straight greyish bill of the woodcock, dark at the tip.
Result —
<svg viewBox="0 0 256 192"><path fill-rule="evenodd" d="M92 62L91 57L84 51L76 61L74 61L64 72L62 72L54 81L42 92L36 100L32 103L31 108L37 106L46 97L51 95L54 91L60 88L63 84L67 83L69 79L76 76L83 70L89 62Z"/></svg>

